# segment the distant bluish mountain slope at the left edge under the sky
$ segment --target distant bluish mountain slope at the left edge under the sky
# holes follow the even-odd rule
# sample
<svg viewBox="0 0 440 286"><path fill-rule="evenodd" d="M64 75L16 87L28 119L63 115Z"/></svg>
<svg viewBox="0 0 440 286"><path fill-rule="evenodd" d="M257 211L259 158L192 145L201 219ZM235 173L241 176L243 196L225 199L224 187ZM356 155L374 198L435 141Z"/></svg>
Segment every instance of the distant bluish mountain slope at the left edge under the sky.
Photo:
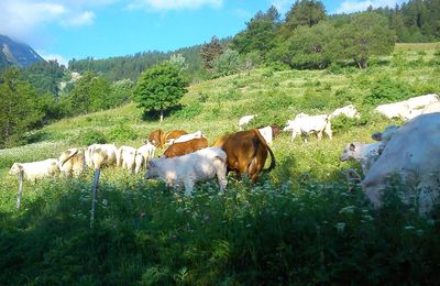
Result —
<svg viewBox="0 0 440 286"><path fill-rule="evenodd" d="M44 62L44 59L30 45L0 35L0 67L11 65L26 67L36 62Z"/></svg>

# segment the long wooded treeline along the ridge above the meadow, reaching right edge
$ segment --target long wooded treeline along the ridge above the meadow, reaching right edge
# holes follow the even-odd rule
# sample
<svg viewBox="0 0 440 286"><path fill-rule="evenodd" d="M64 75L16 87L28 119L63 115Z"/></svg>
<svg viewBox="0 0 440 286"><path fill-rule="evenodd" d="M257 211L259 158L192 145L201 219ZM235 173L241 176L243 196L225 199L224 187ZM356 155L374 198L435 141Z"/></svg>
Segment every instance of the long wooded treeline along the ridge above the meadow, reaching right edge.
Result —
<svg viewBox="0 0 440 286"><path fill-rule="evenodd" d="M172 54L182 54L186 58L188 68L185 74L193 79L223 76L262 63L324 68L338 61L353 59L364 68L370 56L389 54L395 42L439 41L439 15L440 0L410 0L394 8L369 8L364 13L336 15L329 15L321 1L300 0L293 3L284 18L274 7L257 12L246 23L246 29L233 37L232 45L229 44L231 38L216 37L206 44L220 43L220 53L207 55L202 51L206 45L196 45L169 53L73 59L69 69L79 73L94 70L110 80L136 80L143 70ZM366 48L362 46L362 43L372 41ZM213 61L223 52L215 67Z"/></svg>

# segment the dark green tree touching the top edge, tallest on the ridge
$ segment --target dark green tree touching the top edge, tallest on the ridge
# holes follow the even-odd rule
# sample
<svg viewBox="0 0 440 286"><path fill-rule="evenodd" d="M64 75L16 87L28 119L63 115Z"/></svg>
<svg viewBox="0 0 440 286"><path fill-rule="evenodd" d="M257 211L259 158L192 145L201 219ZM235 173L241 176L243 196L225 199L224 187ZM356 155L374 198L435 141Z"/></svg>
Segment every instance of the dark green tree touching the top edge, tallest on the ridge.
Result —
<svg viewBox="0 0 440 286"><path fill-rule="evenodd" d="M286 25L290 30L300 25L312 26L326 18L326 9L321 1L297 0L286 13Z"/></svg>

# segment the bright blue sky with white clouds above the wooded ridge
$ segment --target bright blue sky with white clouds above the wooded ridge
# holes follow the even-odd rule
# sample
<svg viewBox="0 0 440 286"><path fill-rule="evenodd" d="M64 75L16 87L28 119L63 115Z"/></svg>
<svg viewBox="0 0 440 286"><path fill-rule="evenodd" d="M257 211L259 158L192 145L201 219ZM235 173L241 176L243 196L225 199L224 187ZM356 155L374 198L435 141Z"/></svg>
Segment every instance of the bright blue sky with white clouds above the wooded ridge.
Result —
<svg viewBox="0 0 440 286"><path fill-rule="evenodd" d="M231 36L272 4L284 15L295 0L0 0L0 34L45 58L106 58L173 51ZM329 13L403 0L322 1Z"/></svg>

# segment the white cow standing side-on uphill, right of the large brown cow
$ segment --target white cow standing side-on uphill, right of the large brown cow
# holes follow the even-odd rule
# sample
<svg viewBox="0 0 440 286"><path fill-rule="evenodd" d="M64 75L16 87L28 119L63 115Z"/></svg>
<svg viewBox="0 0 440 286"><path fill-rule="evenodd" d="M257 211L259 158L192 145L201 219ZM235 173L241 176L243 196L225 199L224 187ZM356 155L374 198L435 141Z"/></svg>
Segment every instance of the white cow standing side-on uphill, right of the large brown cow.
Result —
<svg viewBox="0 0 440 286"><path fill-rule="evenodd" d="M307 116L305 113L298 114L295 120L288 120L287 125L283 131L292 131L292 141L297 135L301 135L304 141L307 142L307 136L310 133L316 133L318 140L322 139L322 132L326 133L329 139L332 139L330 114L322 116Z"/></svg>

